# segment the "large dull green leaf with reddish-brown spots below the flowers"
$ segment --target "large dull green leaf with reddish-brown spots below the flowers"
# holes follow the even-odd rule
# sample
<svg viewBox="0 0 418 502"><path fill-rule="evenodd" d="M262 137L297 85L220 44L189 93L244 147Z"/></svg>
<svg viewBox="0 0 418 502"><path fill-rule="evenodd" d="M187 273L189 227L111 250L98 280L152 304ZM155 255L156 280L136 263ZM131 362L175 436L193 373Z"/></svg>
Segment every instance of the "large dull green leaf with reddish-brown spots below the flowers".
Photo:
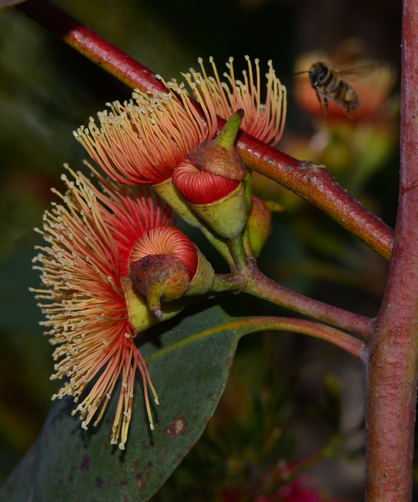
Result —
<svg viewBox="0 0 418 502"><path fill-rule="evenodd" d="M153 328L140 349L160 398L155 430L149 429L139 382L124 451L110 444L116 399L88 431L70 415L72 400L57 400L40 438L0 492L2 502L147 500L202 434L224 392L240 336L262 328L254 320L212 307L160 335L175 319Z"/></svg>

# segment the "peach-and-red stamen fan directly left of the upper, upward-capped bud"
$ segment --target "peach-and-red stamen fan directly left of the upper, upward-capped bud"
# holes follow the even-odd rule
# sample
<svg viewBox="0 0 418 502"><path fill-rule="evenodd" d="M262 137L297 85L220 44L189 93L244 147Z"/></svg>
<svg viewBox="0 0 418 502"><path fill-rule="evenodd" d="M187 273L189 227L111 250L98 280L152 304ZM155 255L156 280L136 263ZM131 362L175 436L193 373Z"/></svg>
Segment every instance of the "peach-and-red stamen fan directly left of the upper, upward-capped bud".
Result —
<svg viewBox="0 0 418 502"><path fill-rule="evenodd" d="M175 87L172 82L166 85ZM90 117L89 128L81 126L74 136L113 180L159 183L171 177L193 147L216 134L216 110L210 101L206 107L207 92L204 99L200 96L203 122L182 87L157 95L136 90L135 102L107 103L111 111L98 112L100 128ZM201 89L205 91L204 83Z"/></svg>

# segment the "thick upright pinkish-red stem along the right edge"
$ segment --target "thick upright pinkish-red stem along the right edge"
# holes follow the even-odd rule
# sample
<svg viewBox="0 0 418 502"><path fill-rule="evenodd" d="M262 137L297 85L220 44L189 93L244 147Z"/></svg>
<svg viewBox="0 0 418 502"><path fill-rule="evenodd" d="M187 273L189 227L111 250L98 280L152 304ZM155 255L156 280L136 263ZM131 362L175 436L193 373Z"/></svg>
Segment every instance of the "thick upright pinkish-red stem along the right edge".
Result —
<svg viewBox="0 0 418 502"><path fill-rule="evenodd" d="M418 374L418 9L403 0L400 192L366 364L366 500L408 502Z"/></svg>

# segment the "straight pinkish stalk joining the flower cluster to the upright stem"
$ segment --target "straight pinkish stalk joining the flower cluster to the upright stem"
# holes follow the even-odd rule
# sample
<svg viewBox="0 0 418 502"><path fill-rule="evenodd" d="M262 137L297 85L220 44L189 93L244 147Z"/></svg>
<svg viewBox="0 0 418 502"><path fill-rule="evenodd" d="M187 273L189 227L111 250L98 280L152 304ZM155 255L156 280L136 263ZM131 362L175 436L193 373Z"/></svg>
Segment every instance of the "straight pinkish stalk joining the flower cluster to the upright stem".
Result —
<svg viewBox="0 0 418 502"><path fill-rule="evenodd" d="M370 336L372 319L347 310L339 309L326 303L318 302L299 293L295 293L269 279L256 267L253 267L248 278L246 293L263 298L303 315L314 317L328 324L346 329L367 338Z"/></svg>

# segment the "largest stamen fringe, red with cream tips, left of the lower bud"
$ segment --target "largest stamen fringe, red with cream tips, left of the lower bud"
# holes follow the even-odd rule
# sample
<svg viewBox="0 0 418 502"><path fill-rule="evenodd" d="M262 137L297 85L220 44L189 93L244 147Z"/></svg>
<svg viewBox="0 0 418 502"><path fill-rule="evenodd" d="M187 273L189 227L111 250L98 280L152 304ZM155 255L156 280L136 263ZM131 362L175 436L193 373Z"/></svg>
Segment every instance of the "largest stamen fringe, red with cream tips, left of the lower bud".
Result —
<svg viewBox="0 0 418 502"><path fill-rule="evenodd" d="M44 230L36 229L51 243L41 247L34 259L41 266L45 289L37 289L37 299L51 329L56 373L51 379L71 377L52 399L69 395L78 403L88 382L97 378L89 394L82 397L72 414L80 412L87 429L103 416L119 374L122 388L113 424L112 444L124 449L132 413L135 372L139 368L151 429L147 385L156 404L145 361L132 338L137 334L128 317L120 276L126 274L127 254L144 229L167 225L170 213L157 202L156 209L147 192L128 190L118 193L112 184L100 178L106 194L101 193L81 173L74 181L62 176L68 192L54 190L67 205L53 203L44 214ZM165 227L164 227L165 228ZM125 232L125 234L124 234Z"/></svg>

